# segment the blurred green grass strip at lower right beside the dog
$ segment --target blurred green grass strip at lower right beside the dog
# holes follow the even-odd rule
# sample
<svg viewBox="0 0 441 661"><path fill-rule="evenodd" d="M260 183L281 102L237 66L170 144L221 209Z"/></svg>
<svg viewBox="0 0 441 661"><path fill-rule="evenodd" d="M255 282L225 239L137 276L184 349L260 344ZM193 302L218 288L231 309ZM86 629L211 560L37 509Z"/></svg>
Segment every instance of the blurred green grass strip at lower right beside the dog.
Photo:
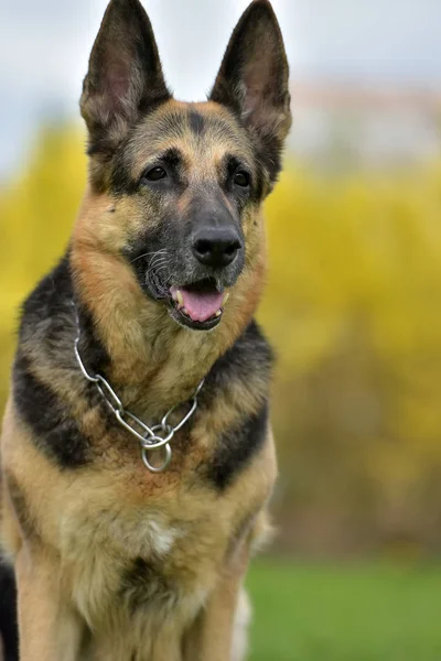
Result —
<svg viewBox="0 0 441 661"><path fill-rule="evenodd" d="M441 661L441 567L255 564L251 661Z"/></svg>

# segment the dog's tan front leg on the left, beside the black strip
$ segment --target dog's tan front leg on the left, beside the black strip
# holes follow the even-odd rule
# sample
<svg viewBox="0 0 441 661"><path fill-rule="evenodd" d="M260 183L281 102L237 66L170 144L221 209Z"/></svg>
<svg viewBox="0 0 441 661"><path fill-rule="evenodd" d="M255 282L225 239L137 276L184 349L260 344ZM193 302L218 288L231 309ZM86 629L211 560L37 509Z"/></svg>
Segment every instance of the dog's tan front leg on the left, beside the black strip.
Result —
<svg viewBox="0 0 441 661"><path fill-rule="evenodd" d="M63 602L57 565L23 546L15 561L20 661L77 661L82 627Z"/></svg>

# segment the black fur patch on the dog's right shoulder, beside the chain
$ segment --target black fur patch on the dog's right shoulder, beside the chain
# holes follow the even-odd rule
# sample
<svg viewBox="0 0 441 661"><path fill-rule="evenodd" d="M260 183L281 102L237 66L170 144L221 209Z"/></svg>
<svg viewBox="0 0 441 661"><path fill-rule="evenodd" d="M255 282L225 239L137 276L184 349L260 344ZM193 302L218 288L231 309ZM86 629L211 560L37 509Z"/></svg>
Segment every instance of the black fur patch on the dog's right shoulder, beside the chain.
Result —
<svg viewBox="0 0 441 661"><path fill-rule="evenodd" d="M206 476L218 491L224 491L257 454L267 437L268 404L240 425L225 432L206 467Z"/></svg>

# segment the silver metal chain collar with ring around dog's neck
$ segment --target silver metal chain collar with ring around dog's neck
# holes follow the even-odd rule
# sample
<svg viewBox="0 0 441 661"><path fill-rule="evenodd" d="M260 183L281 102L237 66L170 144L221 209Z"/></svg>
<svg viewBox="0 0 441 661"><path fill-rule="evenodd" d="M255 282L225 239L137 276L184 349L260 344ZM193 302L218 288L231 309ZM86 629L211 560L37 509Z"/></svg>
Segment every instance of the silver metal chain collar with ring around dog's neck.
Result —
<svg viewBox="0 0 441 661"><path fill-rule="evenodd" d="M74 350L75 350L76 359L79 365L79 369L83 372L83 376L90 383L95 383L96 389L98 390L99 394L101 395L104 401L107 403L107 405L114 413L114 415L117 419L117 421L119 422L119 424L121 426L123 426L128 432L130 432L139 441L140 446L141 446L141 457L142 457L142 462L144 463L146 468L148 468L152 473L162 473L163 470L165 470L168 468L168 466L171 462L171 458L172 458L172 448L170 446L170 441L173 438L174 434L184 426L184 424L192 418L192 415L196 411L197 395L201 392L201 389L204 384L205 379L202 379L201 383L197 386L193 397L189 401L189 403L191 404L189 412L182 418L182 420L178 424L171 425L168 422L168 420L169 420L170 415L182 404L175 404L174 407L172 407L170 409L170 411L168 411L165 413L165 415L163 416L163 419L161 420L161 422L159 424L155 424L150 427L144 422L142 422L142 420L139 420L139 418L133 415L133 413L130 413L130 411L127 411L127 409L125 409L121 400L119 399L119 397L117 395L115 390L111 388L111 386L108 383L108 381L106 381L106 379L104 377L101 377L101 375L90 376L88 373L87 369L84 366L84 362L82 360L82 357L80 357L79 350L78 350L78 345L79 345L78 316L77 316L77 327L78 327L78 334L75 339ZM132 426L132 424L138 425L138 427L141 430L141 432L138 432ZM160 447L164 448L163 449L164 455L165 455L164 460L160 466L152 466L149 462L148 453L153 449L158 449Z"/></svg>

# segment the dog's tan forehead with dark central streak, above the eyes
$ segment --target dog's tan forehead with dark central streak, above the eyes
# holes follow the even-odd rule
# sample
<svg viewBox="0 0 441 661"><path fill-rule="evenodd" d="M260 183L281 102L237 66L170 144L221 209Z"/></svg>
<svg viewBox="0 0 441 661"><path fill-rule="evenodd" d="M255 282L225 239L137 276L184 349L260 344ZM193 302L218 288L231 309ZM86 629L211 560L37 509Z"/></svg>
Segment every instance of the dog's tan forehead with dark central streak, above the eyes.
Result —
<svg viewBox="0 0 441 661"><path fill-rule="evenodd" d="M190 166L213 170L230 154L250 167L255 156L250 141L235 117L211 101L169 101L144 117L127 151L133 174L141 174L159 154L175 150Z"/></svg>

